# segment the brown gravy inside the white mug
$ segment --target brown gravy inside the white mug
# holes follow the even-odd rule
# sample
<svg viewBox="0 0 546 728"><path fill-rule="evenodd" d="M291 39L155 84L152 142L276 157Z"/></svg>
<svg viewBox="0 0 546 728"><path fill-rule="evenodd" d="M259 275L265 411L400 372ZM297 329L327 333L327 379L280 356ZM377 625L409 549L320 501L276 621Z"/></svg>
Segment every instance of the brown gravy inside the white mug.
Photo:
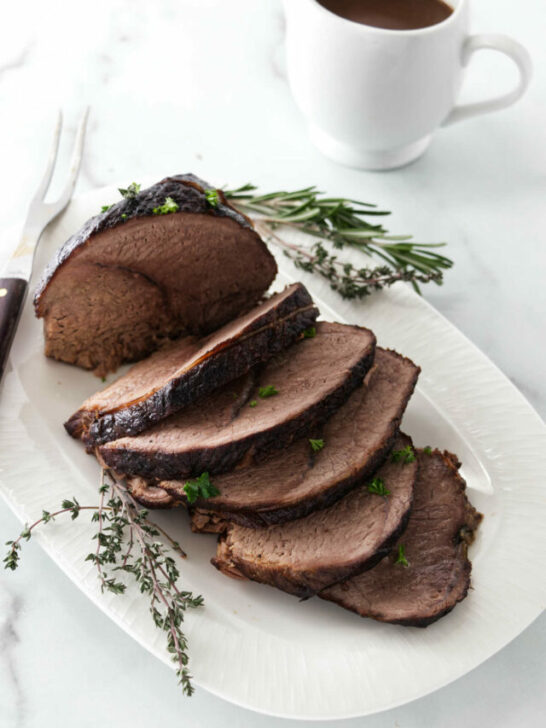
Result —
<svg viewBox="0 0 546 728"><path fill-rule="evenodd" d="M448 18L453 8L443 0L318 0L332 13L355 23L389 30L416 30Z"/></svg>

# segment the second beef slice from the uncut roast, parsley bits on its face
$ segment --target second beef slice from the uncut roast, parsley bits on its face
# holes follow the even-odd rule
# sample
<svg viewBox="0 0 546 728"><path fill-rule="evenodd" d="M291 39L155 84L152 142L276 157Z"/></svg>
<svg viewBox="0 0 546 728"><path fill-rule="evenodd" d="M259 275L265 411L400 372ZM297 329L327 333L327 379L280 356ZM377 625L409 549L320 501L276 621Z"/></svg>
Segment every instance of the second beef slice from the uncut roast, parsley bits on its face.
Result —
<svg viewBox="0 0 546 728"><path fill-rule="evenodd" d="M368 329L319 323L316 336L134 437L97 448L119 473L154 479L226 472L244 456L287 447L362 384L375 352ZM252 375L255 375L253 381Z"/></svg>

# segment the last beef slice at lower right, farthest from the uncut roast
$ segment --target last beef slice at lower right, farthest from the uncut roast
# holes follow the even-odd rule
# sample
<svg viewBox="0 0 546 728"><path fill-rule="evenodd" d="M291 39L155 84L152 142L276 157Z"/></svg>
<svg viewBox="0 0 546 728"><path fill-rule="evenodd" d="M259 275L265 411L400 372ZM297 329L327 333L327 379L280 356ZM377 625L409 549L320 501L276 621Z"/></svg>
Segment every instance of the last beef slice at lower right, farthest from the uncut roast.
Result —
<svg viewBox="0 0 546 728"><path fill-rule="evenodd" d="M416 627L435 622L465 598L471 569L467 546L482 516L467 500L454 456L421 450L418 459L408 527L392 554L321 597L362 617Z"/></svg>

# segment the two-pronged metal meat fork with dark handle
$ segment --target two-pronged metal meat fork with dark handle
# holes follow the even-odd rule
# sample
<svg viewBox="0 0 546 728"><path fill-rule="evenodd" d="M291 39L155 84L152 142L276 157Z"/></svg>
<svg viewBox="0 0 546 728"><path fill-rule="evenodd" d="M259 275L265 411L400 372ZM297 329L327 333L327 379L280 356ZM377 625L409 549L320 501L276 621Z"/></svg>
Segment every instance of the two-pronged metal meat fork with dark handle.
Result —
<svg viewBox="0 0 546 728"><path fill-rule="evenodd" d="M78 124L76 141L72 151L70 170L65 188L58 200L55 202L44 202L55 170L57 153L59 151L59 139L63 127L63 115L59 111L45 174L30 203L19 245L8 260L3 277L0 277L0 380L4 373L13 337L25 302L28 283L32 274L32 264L40 237L47 225L68 205L72 197L72 192L74 191L82 161L88 114L89 108L84 111Z"/></svg>

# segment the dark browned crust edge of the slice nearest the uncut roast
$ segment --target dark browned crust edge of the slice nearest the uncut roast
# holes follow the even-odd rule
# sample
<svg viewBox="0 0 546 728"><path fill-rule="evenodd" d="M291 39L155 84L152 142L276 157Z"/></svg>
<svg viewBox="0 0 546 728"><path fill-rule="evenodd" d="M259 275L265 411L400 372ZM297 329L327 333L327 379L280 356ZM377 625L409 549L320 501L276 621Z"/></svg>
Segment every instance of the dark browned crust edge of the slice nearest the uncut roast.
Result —
<svg viewBox="0 0 546 728"><path fill-rule="evenodd" d="M243 336L227 339L207 352L191 370L125 406L80 408L65 422L65 429L72 437L81 437L90 448L136 435L287 348L317 316L318 309L307 289L297 284L277 308L267 312L259 328L249 327Z"/></svg>

